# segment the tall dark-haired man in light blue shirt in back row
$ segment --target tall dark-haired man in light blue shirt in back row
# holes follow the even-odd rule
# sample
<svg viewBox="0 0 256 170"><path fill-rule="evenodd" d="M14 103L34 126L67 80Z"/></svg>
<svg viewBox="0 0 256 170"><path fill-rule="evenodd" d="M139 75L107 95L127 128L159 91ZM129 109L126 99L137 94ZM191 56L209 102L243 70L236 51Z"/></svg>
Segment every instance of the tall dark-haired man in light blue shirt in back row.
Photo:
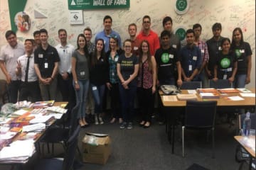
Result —
<svg viewBox="0 0 256 170"><path fill-rule="evenodd" d="M120 37L119 33L112 30L112 28L111 28L112 27L111 16L105 16L103 18L103 26L104 26L104 30L102 30L100 33L97 33L97 35L95 36L95 42L100 38L102 40L104 40L105 52L107 52L108 50L110 50L110 37L112 35L116 35L117 39L118 39L118 45L119 45L119 47L121 47L122 42L121 42L121 37Z"/></svg>

